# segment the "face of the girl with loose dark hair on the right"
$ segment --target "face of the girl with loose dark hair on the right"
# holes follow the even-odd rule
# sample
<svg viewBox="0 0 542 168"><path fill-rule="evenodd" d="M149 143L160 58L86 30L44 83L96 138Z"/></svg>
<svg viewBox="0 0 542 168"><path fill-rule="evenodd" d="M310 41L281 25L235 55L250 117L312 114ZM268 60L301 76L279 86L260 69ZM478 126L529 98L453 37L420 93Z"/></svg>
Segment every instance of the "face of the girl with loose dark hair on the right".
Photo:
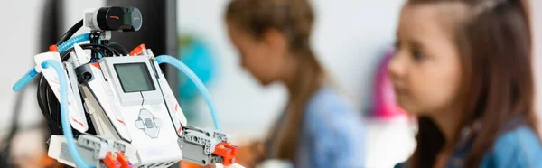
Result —
<svg viewBox="0 0 542 168"><path fill-rule="evenodd" d="M389 75L397 103L421 116L449 110L461 80L460 56L453 31L444 26L442 6L406 5L397 30L397 52Z"/></svg>

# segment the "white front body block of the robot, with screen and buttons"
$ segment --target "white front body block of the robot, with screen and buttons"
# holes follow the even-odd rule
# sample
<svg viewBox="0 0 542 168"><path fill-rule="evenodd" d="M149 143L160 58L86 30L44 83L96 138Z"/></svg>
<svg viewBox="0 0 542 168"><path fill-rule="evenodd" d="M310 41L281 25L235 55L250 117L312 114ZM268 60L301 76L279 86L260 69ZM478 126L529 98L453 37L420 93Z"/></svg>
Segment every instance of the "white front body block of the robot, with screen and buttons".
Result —
<svg viewBox="0 0 542 168"><path fill-rule="evenodd" d="M84 69L91 72L92 79L80 89L84 90L85 107L92 116L97 135L128 142L135 148L136 155L127 156L136 157L139 161L136 165L164 165L182 160L177 143L182 126L177 118L182 115L186 119L169 85L162 83L165 79L160 78L164 75L154 69L151 65L156 64L151 62L155 63L149 56L109 57L77 70L79 74L85 73L81 72ZM147 88L138 88L142 83L133 80L123 83L122 79L133 79L138 74L144 75L138 82L146 81Z"/></svg>

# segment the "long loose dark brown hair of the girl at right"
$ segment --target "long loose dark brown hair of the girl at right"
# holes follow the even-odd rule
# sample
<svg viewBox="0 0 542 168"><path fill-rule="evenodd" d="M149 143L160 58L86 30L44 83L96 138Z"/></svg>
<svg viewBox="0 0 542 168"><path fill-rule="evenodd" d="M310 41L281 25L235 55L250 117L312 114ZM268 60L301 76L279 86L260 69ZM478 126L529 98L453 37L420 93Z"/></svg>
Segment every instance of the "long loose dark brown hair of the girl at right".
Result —
<svg viewBox="0 0 542 168"><path fill-rule="evenodd" d="M463 167L478 167L503 132L505 123L522 117L537 131L534 112L532 43L528 5L519 0L409 0L409 5L458 2L468 14L457 24L455 41L463 80L458 100L463 107L460 129L480 122ZM417 147L409 167L434 167L436 155L453 149L428 117L419 117ZM513 128L512 128L513 129Z"/></svg>

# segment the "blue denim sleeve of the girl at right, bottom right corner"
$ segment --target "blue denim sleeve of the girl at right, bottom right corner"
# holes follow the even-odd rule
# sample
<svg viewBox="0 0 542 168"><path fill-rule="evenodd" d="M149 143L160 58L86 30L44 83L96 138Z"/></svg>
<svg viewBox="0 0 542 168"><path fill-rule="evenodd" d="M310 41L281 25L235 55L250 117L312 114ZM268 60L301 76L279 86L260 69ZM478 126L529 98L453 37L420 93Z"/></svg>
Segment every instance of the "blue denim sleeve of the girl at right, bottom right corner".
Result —
<svg viewBox="0 0 542 168"><path fill-rule="evenodd" d="M481 168L542 168L542 145L535 132L521 126L500 135Z"/></svg>

